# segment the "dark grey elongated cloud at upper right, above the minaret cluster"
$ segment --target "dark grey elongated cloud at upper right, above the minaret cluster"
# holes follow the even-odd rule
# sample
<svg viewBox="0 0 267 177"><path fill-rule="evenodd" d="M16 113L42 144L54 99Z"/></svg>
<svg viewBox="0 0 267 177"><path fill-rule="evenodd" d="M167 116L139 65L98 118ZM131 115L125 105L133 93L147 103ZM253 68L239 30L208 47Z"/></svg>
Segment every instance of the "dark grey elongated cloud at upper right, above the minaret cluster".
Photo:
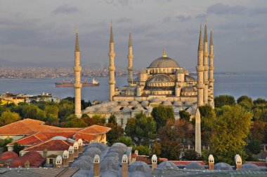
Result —
<svg viewBox="0 0 267 177"><path fill-rule="evenodd" d="M216 15L232 14L242 15L247 13L247 8L244 6L228 6L223 3L215 3L207 8L207 13L213 13Z"/></svg>

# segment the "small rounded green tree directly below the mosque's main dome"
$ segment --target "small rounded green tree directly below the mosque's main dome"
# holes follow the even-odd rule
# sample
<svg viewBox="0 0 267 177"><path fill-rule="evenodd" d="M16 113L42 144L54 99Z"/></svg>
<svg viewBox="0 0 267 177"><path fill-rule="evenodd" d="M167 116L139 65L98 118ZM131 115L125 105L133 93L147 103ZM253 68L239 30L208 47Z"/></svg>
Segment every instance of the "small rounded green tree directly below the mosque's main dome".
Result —
<svg viewBox="0 0 267 177"><path fill-rule="evenodd" d="M174 120L174 109L171 106L163 106L160 104L152 110L152 118L157 122L157 129L164 126L167 120Z"/></svg>

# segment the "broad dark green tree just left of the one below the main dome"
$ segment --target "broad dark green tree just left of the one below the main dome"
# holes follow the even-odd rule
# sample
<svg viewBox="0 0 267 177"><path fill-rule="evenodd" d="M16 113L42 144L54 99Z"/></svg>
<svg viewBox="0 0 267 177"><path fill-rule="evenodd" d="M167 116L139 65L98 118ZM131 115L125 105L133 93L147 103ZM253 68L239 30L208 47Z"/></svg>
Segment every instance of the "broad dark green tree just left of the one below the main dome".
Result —
<svg viewBox="0 0 267 177"><path fill-rule="evenodd" d="M151 116L147 117L145 113L139 113L136 114L135 120L129 120L126 123L124 131L126 135L131 136L133 141L138 145L140 145L141 142L149 143L149 141L155 137L157 125Z"/></svg>

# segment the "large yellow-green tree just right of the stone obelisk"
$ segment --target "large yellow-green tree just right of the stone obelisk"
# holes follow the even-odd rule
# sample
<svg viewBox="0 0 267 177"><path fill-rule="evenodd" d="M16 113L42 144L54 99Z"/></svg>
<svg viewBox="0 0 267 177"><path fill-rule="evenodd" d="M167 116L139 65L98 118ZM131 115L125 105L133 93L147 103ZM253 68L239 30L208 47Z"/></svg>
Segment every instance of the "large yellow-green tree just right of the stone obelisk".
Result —
<svg viewBox="0 0 267 177"><path fill-rule="evenodd" d="M217 162L234 164L233 157L237 154L245 159L251 119L252 113L239 105L222 107L222 114L211 129L211 153Z"/></svg>

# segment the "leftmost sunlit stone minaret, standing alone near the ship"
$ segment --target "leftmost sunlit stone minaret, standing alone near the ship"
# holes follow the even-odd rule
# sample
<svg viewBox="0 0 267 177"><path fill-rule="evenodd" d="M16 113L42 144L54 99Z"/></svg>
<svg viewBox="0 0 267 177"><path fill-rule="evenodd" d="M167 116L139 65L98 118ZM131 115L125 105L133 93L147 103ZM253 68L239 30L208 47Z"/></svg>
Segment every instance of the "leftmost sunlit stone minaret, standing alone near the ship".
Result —
<svg viewBox="0 0 267 177"><path fill-rule="evenodd" d="M74 59L75 64L73 67L74 76L75 76L75 83L74 83L74 90L75 90L75 115L78 118L82 117L81 111L81 71L82 67L79 64L79 39L78 39L78 29L76 30L76 43L75 43L75 52L74 52Z"/></svg>

